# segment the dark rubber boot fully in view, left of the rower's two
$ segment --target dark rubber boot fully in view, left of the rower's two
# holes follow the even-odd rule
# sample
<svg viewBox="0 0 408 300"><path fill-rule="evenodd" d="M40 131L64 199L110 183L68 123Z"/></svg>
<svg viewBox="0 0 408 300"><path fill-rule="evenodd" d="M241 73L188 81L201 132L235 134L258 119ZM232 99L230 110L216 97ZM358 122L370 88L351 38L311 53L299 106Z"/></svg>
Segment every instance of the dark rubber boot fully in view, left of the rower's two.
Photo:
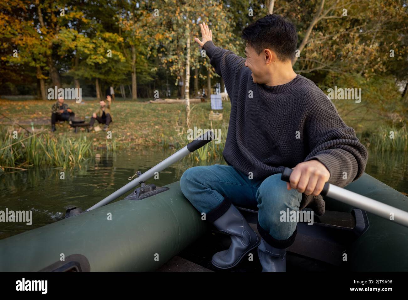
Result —
<svg viewBox="0 0 408 300"><path fill-rule="evenodd" d="M213 223L217 229L231 235L228 250L217 252L211 262L220 269L235 267L239 261L261 242L239 210L231 204L228 210Z"/></svg>

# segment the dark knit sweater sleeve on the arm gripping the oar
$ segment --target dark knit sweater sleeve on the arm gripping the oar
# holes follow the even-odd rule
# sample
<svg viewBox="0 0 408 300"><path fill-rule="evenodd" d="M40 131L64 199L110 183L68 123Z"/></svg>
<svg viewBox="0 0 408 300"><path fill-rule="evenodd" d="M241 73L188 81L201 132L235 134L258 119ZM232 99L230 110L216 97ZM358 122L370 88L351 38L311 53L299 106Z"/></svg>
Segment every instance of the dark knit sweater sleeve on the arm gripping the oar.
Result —
<svg viewBox="0 0 408 300"><path fill-rule="evenodd" d="M330 172L329 183L344 187L364 173L367 150L326 97L310 110L306 135L310 154L305 161L317 159L323 163Z"/></svg>

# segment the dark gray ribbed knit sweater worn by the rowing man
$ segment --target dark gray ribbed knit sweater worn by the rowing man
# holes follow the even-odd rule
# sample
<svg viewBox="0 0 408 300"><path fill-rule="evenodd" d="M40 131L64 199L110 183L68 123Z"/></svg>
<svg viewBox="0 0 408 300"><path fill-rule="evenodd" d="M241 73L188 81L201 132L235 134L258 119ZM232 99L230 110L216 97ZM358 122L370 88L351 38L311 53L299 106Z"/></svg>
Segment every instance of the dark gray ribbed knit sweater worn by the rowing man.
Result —
<svg viewBox="0 0 408 300"><path fill-rule="evenodd" d="M282 173L284 167L317 159L329 170L329 182L341 187L363 174L366 148L311 80L297 74L279 86L255 84L243 57L211 41L203 49L231 99L223 152L229 165L264 179ZM306 206L324 213L322 196L303 194L300 209Z"/></svg>

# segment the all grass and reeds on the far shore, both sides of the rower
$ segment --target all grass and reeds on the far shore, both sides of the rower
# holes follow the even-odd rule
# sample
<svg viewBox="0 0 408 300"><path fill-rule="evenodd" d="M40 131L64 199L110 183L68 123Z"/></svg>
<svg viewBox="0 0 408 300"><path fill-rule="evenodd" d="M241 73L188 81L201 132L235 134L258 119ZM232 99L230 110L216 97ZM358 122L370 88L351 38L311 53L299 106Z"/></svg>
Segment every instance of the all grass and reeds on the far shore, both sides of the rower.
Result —
<svg viewBox="0 0 408 300"><path fill-rule="evenodd" d="M391 91L391 88L387 88L390 84L382 82L382 86L378 86L377 82L363 89L366 92L361 103L333 100L341 118L355 129L357 137L368 150L408 150L407 106L398 93L392 95L390 92L385 99L384 90ZM188 143L184 104L150 104L151 99L134 101L116 98L111 108L115 119L109 127L111 139L108 139L107 132L102 130L85 132L81 128L79 133L74 133L68 122L57 124L57 131L51 132L51 106L54 101L3 97L6 99L0 99L2 114L8 117L0 116L0 169L3 172L11 171L4 167L25 169L29 166L49 165L68 168L101 151L141 148L170 148L176 151ZM89 121L86 117L99 105L95 98L83 98L79 104L74 100L66 100L66 103L76 117L86 122ZM192 105L191 127L220 130L221 143L208 143L186 159L208 161L222 158L231 103L224 101L223 107L223 119L210 121L209 101ZM38 134L40 131L43 132ZM17 138L14 135L16 132Z"/></svg>

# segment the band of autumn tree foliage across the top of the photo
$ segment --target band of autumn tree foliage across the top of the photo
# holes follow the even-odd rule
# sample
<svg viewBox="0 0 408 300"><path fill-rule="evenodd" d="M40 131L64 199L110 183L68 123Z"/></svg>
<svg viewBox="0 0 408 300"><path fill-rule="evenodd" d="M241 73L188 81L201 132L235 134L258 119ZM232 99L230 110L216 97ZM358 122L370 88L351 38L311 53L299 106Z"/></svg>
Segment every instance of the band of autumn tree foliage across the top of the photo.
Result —
<svg viewBox="0 0 408 300"><path fill-rule="evenodd" d="M207 22L217 46L244 55L242 29L268 13L269 1L9 0L0 3L0 93L42 95L53 85L129 86L153 97L186 76L219 82L193 42ZM287 0L274 13L297 27L294 69L317 84L338 76L391 76L408 82L408 18L404 0ZM183 83L184 84L184 83ZM193 84L190 84L193 86ZM396 87L397 88L397 87ZM406 88L407 90L407 88ZM102 93L100 91L99 93ZM173 95L175 95L173 93ZM98 94L98 91L96 91ZM408 95L408 92L406 93Z"/></svg>

